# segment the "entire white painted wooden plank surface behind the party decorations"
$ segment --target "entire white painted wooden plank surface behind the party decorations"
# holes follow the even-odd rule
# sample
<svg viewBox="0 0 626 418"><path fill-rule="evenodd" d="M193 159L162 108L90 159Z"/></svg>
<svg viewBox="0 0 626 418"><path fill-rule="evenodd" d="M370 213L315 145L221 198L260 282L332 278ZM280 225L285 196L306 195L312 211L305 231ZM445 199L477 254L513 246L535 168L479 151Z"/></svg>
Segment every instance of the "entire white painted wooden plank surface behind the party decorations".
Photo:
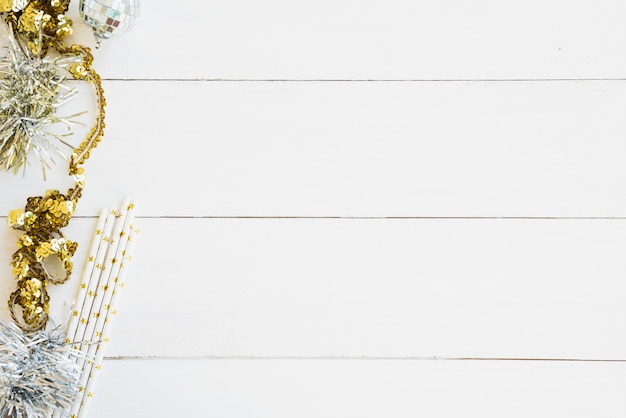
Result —
<svg viewBox="0 0 626 418"><path fill-rule="evenodd" d="M142 7L66 230L138 201L93 418L624 415L626 3Z"/></svg>

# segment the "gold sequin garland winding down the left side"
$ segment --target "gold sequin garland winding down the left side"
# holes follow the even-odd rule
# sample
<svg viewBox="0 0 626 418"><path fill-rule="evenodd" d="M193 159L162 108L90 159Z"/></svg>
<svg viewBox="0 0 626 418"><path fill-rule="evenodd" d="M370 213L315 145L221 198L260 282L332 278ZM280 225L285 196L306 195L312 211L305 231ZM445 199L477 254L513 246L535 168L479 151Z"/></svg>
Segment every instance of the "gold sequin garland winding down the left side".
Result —
<svg viewBox="0 0 626 418"><path fill-rule="evenodd" d="M21 10L15 10L15 3L0 0L0 12L6 12L6 21L13 28L15 37L27 45L30 53L40 57L50 49L61 55L80 57L81 63L74 64L70 73L75 79L94 86L98 107L93 128L70 158L69 174L74 177L74 187L66 194L49 190L44 196L29 197L24 210L11 211L7 218L11 228L24 232L11 259L13 274L18 282L17 289L9 298L9 308L22 330L35 332L45 328L48 321L48 283L64 283L71 275L71 257L78 245L65 239L61 228L69 224L82 195L84 169L81 165L102 139L106 101L100 76L91 67L93 55L90 49L64 44L63 40L72 33L72 21L65 15L69 0L24 1ZM65 271L62 277L56 277L51 272L55 259Z"/></svg>

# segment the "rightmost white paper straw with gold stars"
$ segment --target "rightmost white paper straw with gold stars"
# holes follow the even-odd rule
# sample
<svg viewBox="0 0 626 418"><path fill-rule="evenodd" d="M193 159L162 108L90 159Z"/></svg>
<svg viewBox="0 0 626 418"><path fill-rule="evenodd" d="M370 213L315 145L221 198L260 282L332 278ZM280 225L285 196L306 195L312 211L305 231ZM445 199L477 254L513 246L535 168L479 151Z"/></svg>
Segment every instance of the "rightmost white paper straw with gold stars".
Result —
<svg viewBox="0 0 626 418"><path fill-rule="evenodd" d="M124 287L124 280L126 277L126 272L128 271L127 266L132 260L133 247L135 245L137 233L138 230L136 229L133 229L129 233L126 247L123 251L121 259L122 261L119 263L117 274L111 278L111 285L114 290L113 292L111 292L111 300L109 302L108 309L106 309L106 317L103 321L103 328L101 333L102 343L96 347L93 367L91 372L89 373L89 378L85 386L83 401L79 406L80 409L78 411L77 418L85 418L89 412L89 406L91 404L91 400L93 399L93 392L100 376L100 368L102 366L102 361L106 352L106 344L109 342L109 337L111 335L111 327L114 322L113 318L117 314L117 307L119 304L121 289Z"/></svg>

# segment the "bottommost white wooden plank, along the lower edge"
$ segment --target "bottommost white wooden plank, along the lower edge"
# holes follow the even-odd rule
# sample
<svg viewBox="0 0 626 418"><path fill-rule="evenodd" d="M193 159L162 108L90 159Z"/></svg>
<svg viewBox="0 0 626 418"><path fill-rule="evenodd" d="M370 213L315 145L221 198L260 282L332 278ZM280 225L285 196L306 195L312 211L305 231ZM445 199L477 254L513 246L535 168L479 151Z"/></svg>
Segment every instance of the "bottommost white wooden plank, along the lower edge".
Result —
<svg viewBox="0 0 626 418"><path fill-rule="evenodd" d="M109 361L93 418L621 417L624 363Z"/></svg>

